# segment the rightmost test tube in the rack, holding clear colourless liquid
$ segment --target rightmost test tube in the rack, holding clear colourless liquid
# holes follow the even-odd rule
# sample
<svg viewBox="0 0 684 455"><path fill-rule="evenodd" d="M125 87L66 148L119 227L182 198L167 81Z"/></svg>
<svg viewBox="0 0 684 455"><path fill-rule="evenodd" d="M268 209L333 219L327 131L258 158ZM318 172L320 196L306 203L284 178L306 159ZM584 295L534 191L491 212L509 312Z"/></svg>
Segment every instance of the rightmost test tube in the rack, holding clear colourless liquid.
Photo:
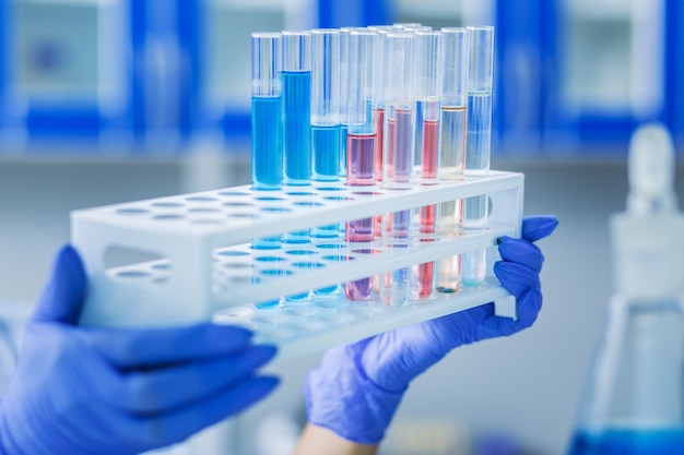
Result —
<svg viewBox="0 0 684 455"><path fill-rule="evenodd" d="M470 56L468 64L468 139L465 176L490 172L492 144L492 80L494 70L494 27L468 27ZM463 232L487 228L488 196L468 197L463 208ZM486 250L465 253L461 259L461 280L479 286L486 277Z"/></svg>

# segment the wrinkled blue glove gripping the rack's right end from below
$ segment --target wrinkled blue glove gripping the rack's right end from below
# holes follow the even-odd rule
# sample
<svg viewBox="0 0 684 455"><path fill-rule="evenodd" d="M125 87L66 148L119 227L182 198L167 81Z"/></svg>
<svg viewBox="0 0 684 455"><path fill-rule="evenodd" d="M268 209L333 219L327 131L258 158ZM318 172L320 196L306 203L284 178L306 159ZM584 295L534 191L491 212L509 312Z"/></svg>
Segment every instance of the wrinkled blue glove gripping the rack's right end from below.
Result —
<svg viewBox="0 0 684 455"><path fill-rule="evenodd" d="M385 435L409 383L451 349L510 335L532 325L542 307L539 273L544 261L532 242L557 226L554 216L528 217L522 239L499 239L494 273L516 297L518 319L499 318L487 303L329 349L306 381L310 423L363 444Z"/></svg>

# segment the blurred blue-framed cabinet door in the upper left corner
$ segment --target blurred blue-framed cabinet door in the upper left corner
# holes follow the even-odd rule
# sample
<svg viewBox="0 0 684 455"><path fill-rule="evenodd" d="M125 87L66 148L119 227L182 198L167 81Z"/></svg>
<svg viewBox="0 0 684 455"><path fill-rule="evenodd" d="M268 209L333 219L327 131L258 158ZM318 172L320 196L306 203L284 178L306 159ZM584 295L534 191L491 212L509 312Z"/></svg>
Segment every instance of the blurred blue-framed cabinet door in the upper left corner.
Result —
<svg viewBox="0 0 684 455"><path fill-rule="evenodd" d="M130 39L123 0L0 0L3 144L123 140Z"/></svg>

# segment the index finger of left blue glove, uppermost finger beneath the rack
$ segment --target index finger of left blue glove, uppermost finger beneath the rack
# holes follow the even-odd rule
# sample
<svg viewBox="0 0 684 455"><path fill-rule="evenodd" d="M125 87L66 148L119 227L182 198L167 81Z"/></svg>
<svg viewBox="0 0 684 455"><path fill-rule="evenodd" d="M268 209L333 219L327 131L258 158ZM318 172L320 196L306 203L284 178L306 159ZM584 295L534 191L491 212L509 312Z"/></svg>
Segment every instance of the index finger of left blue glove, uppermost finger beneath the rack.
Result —
<svg viewBox="0 0 684 455"><path fill-rule="evenodd" d="M120 369L181 363L245 349L252 333L233 325L201 323L164 328L90 330L87 338Z"/></svg>

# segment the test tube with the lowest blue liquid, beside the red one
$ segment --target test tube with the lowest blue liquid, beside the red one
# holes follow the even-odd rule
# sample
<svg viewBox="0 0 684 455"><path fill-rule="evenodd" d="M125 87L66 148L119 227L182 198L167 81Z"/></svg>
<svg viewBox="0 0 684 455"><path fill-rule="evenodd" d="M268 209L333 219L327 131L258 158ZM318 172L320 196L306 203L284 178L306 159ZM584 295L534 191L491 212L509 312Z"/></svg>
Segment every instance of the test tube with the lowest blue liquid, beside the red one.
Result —
<svg viewBox="0 0 684 455"><path fill-rule="evenodd" d="M340 176L340 31L311 31L311 148L314 180L337 181ZM339 226L315 227L311 237L334 238ZM338 286L314 289L318 296L337 292Z"/></svg>

